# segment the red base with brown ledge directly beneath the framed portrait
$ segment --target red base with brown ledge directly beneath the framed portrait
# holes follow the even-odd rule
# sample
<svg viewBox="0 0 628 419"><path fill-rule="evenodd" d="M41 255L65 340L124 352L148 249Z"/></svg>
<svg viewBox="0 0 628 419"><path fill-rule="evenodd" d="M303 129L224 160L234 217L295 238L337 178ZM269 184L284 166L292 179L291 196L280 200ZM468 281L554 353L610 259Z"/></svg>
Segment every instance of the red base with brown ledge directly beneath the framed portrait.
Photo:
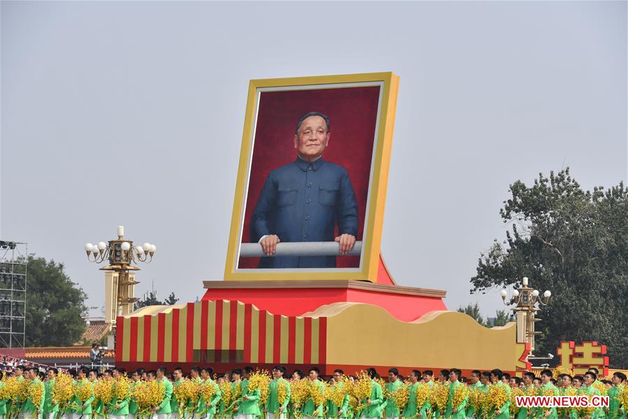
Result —
<svg viewBox="0 0 628 419"><path fill-rule="evenodd" d="M380 306L404 322L447 309L445 291L395 285L381 257L377 280L207 280L203 300L242 301L283 315L303 315L337 302L365 303Z"/></svg>

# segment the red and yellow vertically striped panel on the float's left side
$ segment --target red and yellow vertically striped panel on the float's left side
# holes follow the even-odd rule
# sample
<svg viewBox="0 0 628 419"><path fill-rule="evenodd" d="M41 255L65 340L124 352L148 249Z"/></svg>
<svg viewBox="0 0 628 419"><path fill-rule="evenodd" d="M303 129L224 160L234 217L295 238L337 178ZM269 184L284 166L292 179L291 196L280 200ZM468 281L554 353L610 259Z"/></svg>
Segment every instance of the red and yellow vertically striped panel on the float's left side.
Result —
<svg viewBox="0 0 628 419"><path fill-rule="evenodd" d="M119 362L324 364L327 318L287 317L240 301L188 303L117 318Z"/></svg>

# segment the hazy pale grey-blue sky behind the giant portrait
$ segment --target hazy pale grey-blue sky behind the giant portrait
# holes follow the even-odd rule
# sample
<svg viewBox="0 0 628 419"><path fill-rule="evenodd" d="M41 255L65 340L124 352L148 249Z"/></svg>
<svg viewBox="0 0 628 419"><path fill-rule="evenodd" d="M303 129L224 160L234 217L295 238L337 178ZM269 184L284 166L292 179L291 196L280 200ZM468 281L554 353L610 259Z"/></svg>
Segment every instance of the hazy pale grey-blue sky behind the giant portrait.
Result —
<svg viewBox="0 0 628 419"><path fill-rule="evenodd" d="M158 248L136 294L194 301L223 278L251 78L400 76L381 251L450 309L501 305L469 278L513 181L627 178L623 1L0 7L0 237L63 262L92 315L83 246L117 225Z"/></svg>

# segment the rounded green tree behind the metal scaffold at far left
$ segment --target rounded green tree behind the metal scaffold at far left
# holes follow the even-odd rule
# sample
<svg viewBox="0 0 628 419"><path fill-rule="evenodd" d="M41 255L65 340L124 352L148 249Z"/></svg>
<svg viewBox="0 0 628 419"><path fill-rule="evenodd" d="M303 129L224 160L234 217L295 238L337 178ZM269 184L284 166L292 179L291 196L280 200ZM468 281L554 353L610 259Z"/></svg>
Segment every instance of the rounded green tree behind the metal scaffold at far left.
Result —
<svg viewBox="0 0 628 419"><path fill-rule="evenodd" d="M85 331L87 294L73 283L64 264L29 255L26 346L71 346Z"/></svg>

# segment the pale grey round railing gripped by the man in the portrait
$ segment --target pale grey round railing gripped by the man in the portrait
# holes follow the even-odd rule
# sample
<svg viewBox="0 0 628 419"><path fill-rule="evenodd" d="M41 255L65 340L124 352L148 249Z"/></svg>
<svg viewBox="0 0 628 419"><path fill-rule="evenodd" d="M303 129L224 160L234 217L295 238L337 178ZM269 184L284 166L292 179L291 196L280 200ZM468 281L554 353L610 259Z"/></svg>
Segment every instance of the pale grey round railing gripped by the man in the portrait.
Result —
<svg viewBox="0 0 628 419"><path fill-rule="evenodd" d="M362 242L356 245L346 255L359 256L362 253ZM268 257L276 256L345 256L339 253L339 244L335 241L303 241L292 243L277 243L277 252ZM259 243L242 243L240 257L266 257Z"/></svg>

